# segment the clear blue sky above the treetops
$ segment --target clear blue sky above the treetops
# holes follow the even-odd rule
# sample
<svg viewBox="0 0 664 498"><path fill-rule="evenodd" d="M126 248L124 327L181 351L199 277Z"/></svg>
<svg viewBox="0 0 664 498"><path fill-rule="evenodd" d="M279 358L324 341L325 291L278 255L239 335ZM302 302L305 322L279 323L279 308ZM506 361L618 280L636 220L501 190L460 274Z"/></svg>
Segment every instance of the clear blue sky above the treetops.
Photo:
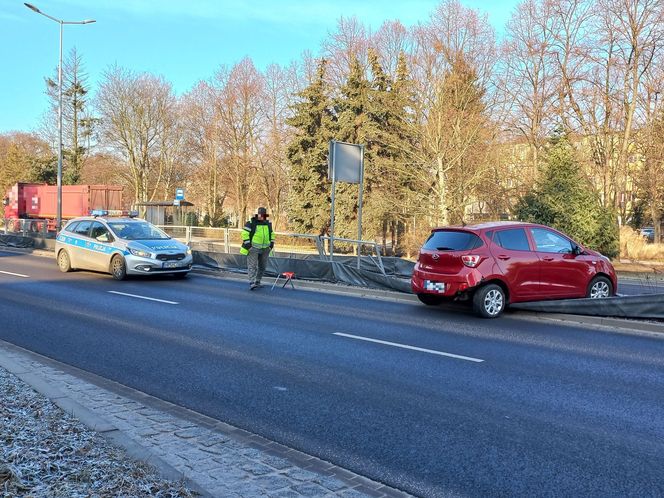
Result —
<svg viewBox="0 0 664 498"><path fill-rule="evenodd" d="M502 29L517 0L462 0ZM425 22L437 0L31 0L67 21L64 53L76 47L96 87L110 65L163 75L178 93L245 56L259 68L317 54L341 16L372 30L386 20ZM0 133L37 128L48 107L44 77L58 63L59 27L18 0L0 0Z"/></svg>

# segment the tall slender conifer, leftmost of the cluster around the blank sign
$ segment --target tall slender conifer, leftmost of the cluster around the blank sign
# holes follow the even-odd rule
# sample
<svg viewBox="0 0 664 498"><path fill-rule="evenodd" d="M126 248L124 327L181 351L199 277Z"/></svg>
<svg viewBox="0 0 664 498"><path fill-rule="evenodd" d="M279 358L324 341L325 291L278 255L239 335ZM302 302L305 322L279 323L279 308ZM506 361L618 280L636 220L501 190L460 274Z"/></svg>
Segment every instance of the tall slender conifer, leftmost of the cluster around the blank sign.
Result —
<svg viewBox="0 0 664 498"><path fill-rule="evenodd" d="M323 234L330 226L330 182L327 180L329 141L334 116L325 83L326 61L318 64L313 82L300 94L287 123L296 129L288 146L290 191L289 222L292 230Z"/></svg>

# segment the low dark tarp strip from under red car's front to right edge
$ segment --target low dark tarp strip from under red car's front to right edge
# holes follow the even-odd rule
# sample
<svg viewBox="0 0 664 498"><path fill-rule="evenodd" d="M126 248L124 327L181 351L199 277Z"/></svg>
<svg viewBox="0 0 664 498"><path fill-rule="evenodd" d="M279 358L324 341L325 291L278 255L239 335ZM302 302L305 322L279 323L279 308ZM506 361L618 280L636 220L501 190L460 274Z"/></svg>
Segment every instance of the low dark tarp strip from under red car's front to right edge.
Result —
<svg viewBox="0 0 664 498"><path fill-rule="evenodd" d="M511 308L545 313L664 320L664 294L536 301L513 304Z"/></svg>

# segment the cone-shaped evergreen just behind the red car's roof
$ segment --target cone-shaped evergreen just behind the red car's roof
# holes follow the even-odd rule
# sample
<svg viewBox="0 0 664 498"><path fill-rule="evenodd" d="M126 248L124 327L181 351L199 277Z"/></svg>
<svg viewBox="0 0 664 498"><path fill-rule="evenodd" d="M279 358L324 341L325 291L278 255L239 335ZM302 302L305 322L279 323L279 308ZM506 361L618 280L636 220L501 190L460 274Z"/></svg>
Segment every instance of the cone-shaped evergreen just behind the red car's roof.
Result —
<svg viewBox="0 0 664 498"><path fill-rule="evenodd" d="M544 171L534 190L516 207L518 219L552 226L608 257L619 252L615 213L601 206L569 140L556 134L546 152Z"/></svg>

